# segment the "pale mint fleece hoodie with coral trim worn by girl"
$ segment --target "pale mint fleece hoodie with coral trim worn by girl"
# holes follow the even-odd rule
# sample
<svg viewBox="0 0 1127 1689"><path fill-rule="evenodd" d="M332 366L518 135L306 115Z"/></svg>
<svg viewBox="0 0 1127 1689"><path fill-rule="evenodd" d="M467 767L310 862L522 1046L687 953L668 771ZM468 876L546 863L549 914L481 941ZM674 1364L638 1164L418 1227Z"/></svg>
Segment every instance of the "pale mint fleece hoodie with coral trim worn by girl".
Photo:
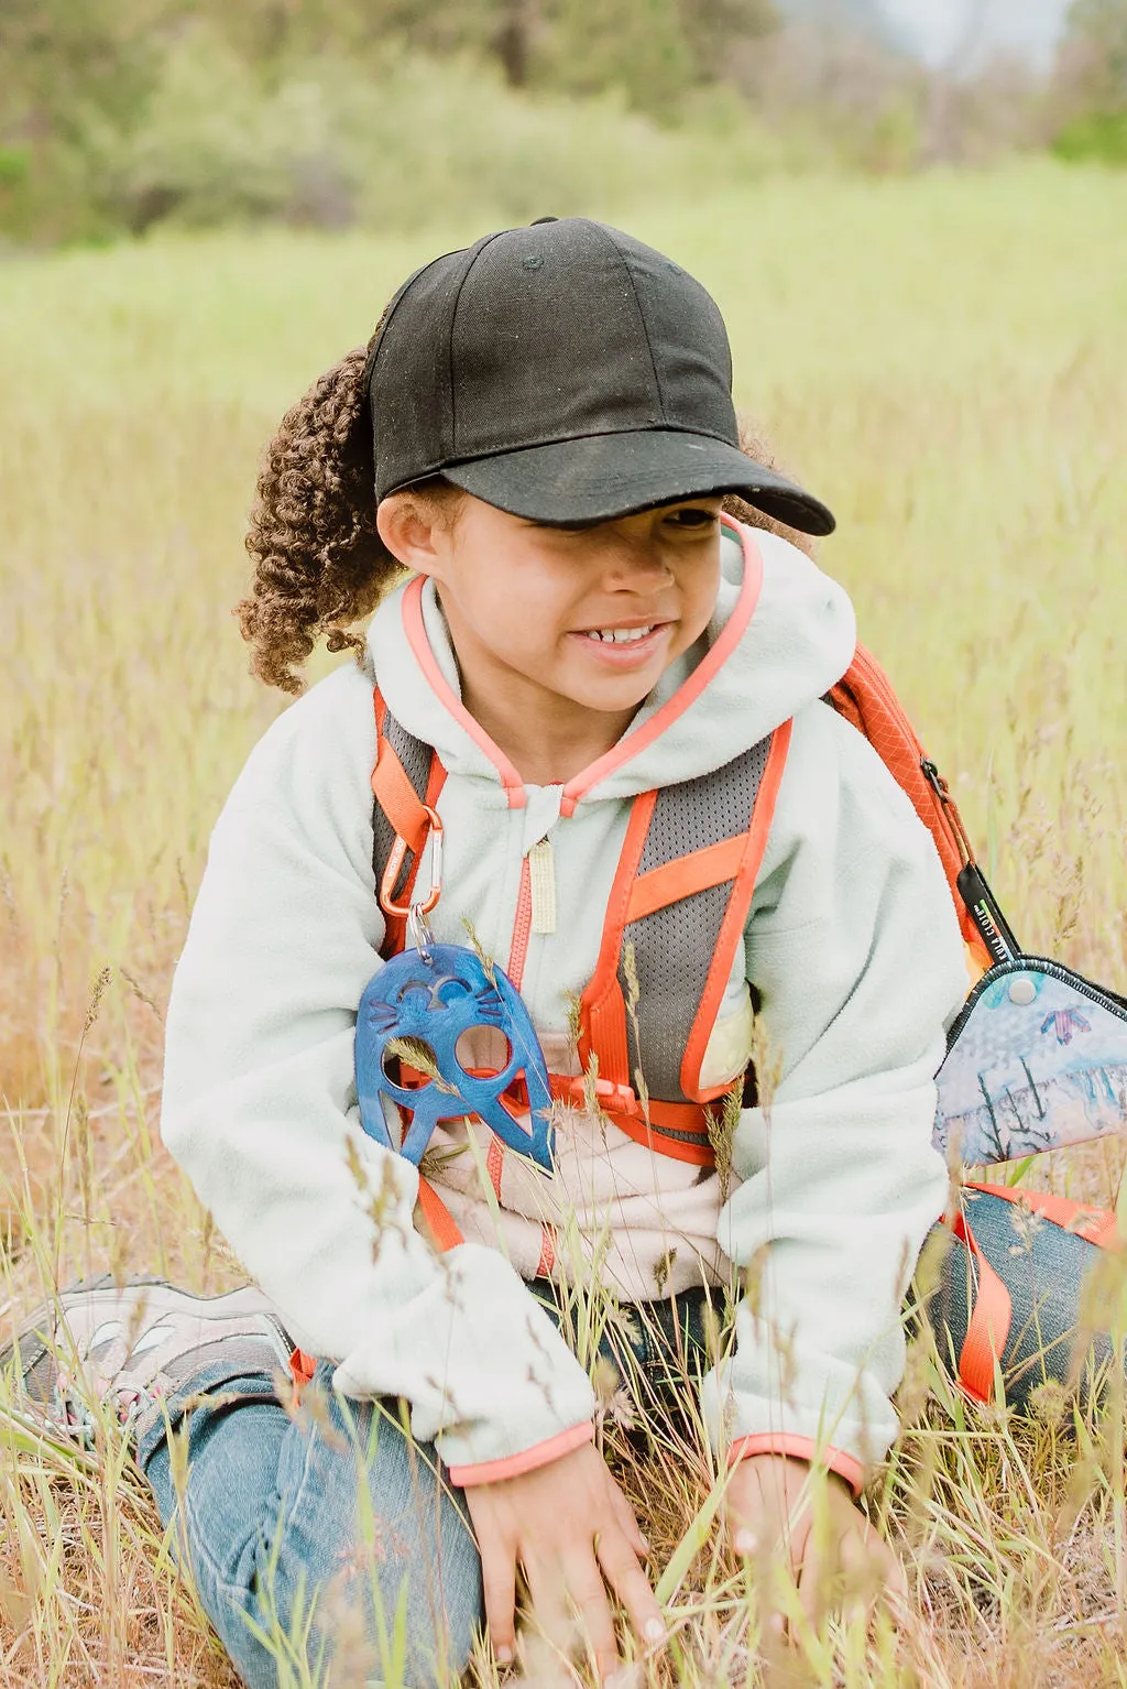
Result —
<svg viewBox="0 0 1127 1689"><path fill-rule="evenodd" d="M366 667L339 669L278 718L213 836L169 1012L165 1143L302 1348L336 1360L349 1393L405 1397L456 1481L589 1434L590 1383L523 1282L545 1268L545 1226L569 1240L550 1270L582 1275L597 1253L626 1301L756 1263L736 1353L704 1385L720 1453L747 1437L783 1453L825 1444L857 1480L896 1434L899 1306L946 1192L933 1074L965 997L962 942L911 804L822 703L854 650L845 593L769 534L725 530L722 566L705 637L567 787L526 787L466 714L434 589L413 623L410 595L393 593ZM447 768L440 941L464 942L471 922L504 963L525 858L550 844L555 921L528 939L521 993L552 1066L567 1059L569 1002L594 968L633 797L793 720L707 1057L714 1073L742 1066L752 983L778 1083L769 1111L741 1120L731 1192L572 1111L550 1179L515 1155L486 1169L486 1135L474 1154L467 1128L445 1132L439 1177L466 1243L435 1257L415 1231L415 1169L361 1132L353 1074L383 936L375 676Z"/></svg>

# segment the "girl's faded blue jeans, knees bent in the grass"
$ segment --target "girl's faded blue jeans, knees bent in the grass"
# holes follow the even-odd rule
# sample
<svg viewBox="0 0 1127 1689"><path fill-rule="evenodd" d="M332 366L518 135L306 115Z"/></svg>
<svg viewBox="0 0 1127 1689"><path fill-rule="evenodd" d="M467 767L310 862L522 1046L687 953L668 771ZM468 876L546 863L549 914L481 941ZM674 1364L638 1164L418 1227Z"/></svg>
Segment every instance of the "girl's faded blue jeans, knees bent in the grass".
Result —
<svg viewBox="0 0 1127 1689"><path fill-rule="evenodd" d="M1026 1231L1029 1246L1019 1248L1012 1206L999 1198L977 1196L968 1218L1011 1289L1007 1393L1024 1405L1036 1382L1068 1370L1081 1282L1100 1252L1048 1225L1031 1238ZM955 1243L928 1304L945 1358L962 1346L972 1279L967 1252ZM558 1319L552 1287L537 1280L530 1289ZM688 1290L644 1312L631 1319L626 1311L601 1353L673 1405L678 1387L710 1365L707 1297ZM331 1371L317 1368L295 1417L265 1373L201 1371L191 1392L211 1395L209 1404L191 1412L184 1395L167 1404L187 1444L182 1502L174 1476L182 1446L170 1447L164 1426L142 1437L138 1463L172 1525L177 1557L191 1566L202 1606L251 1689L447 1684L466 1669L483 1623L481 1561L464 1495L450 1486L434 1446L405 1434L396 1402L346 1400L331 1388Z"/></svg>

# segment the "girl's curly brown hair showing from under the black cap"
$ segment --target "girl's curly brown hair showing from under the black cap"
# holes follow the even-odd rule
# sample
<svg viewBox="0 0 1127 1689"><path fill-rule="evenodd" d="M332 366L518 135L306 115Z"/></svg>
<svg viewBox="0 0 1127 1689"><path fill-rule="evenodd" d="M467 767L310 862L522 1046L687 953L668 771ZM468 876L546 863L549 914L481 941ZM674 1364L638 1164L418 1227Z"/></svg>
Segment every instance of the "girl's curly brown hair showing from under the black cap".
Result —
<svg viewBox="0 0 1127 1689"><path fill-rule="evenodd" d="M236 606L251 649L251 674L283 692L300 692L299 671L324 635L329 650L354 650L353 632L403 574L376 530L376 486L364 370L368 346L356 346L285 412L268 443L250 515L246 551L255 559L250 598ZM773 466L759 436L741 424L741 446ZM435 476L415 491L452 519L466 495ZM724 508L752 527L810 547L810 540L742 498Z"/></svg>

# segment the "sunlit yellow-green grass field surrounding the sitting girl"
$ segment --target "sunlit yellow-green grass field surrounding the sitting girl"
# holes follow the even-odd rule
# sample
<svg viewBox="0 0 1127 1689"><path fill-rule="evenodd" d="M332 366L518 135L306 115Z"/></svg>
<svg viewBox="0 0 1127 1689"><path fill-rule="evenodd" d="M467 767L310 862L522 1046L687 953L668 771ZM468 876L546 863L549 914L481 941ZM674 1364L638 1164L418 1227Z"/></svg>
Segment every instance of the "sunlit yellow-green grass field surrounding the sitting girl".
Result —
<svg viewBox="0 0 1127 1689"><path fill-rule="evenodd" d="M773 179L616 221L719 299L737 400L835 508L820 559L1019 937L1124 990L1127 177ZM282 703L246 677L229 616L256 458L403 275L481 231L467 216L410 238L169 238L0 265L5 1328L44 1284L106 1265L209 1289L238 1274L157 1121L208 831ZM1114 1201L1122 1159L1033 1177ZM952 1426L913 1377L879 1505L914 1616L869 1643L860 1621L832 1625L798 1681L1127 1684L1122 1420L1080 1442L962 1409ZM709 1474L700 1454L663 1473L668 1556ZM628 1481L655 1493L653 1473ZM0 1679L233 1682L157 1547L113 1436L100 1469L12 1444ZM653 1681L742 1682L737 1581L707 1549L680 1571L663 1584L680 1643Z"/></svg>

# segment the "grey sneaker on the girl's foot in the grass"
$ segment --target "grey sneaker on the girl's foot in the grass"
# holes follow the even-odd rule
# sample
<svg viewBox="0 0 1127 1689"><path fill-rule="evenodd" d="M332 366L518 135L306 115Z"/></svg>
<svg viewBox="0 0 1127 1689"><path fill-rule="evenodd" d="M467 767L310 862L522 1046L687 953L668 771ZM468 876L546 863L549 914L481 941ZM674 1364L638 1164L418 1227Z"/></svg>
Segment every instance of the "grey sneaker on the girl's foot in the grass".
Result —
<svg viewBox="0 0 1127 1689"><path fill-rule="evenodd" d="M94 1402L111 1400L118 1422L143 1436L162 1402L204 1368L223 1378L287 1370L294 1343L262 1290L189 1295L165 1279L106 1274L61 1290L35 1309L15 1341L0 1350L0 1370L15 1365L34 1422L93 1446ZM221 1388L211 1383L209 1388Z"/></svg>

